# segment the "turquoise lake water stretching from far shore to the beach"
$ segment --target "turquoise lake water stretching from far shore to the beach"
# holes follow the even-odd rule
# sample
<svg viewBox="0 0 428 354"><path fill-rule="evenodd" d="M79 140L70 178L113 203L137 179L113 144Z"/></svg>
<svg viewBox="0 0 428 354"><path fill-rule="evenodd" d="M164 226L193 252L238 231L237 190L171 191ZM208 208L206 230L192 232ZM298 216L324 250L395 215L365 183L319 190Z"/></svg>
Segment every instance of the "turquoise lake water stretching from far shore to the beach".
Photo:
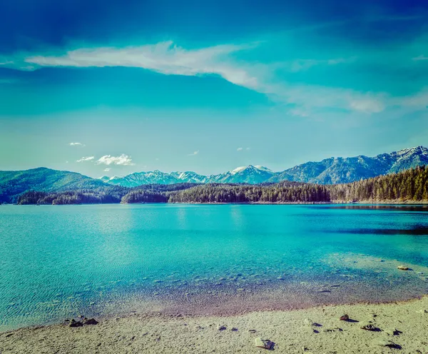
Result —
<svg viewBox="0 0 428 354"><path fill-rule="evenodd" d="M0 206L0 330L424 293L422 206Z"/></svg>

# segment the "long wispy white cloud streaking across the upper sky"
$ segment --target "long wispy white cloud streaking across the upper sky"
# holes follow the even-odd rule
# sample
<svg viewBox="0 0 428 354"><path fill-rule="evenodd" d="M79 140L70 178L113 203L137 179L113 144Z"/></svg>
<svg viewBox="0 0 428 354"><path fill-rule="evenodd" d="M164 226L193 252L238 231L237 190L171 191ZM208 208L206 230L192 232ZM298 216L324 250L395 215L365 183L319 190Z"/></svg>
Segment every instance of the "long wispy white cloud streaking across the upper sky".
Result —
<svg viewBox="0 0 428 354"><path fill-rule="evenodd" d="M128 66L156 71L165 75L218 75L232 84L267 95L271 101L285 104L298 116L313 112L335 110L379 113L388 106L386 93L372 93L310 84L290 84L280 80L279 71L302 71L312 66L333 66L355 61L355 57L332 59L303 59L285 63L262 64L237 60L238 52L253 50L257 43L225 44L202 49L183 49L172 41L128 47L95 47L66 51L63 55L25 55L25 65L34 69L42 66L104 67ZM242 57L242 55L240 55ZM414 60L424 60L419 56ZM22 67L19 69L23 69Z"/></svg>

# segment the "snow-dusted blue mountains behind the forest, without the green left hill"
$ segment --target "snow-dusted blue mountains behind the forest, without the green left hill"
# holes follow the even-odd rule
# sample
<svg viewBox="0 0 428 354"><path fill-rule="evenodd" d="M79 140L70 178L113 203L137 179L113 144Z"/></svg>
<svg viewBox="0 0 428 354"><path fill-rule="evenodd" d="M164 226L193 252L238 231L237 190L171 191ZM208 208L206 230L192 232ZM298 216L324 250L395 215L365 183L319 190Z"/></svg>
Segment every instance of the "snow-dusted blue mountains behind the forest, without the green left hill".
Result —
<svg viewBox="0 0 428 354"><path fill-rule="evenodd" d="M348 183L388 173L397 173L417 166L428 165L428 148L417 146L374 157L326 158L273 172L263 166L242 166L217 175L200 175L193 171L165 173L136 172L124 177L102 177L113 185L135 187L143 184L173 183L248 183L299 181L312 183Z"/></svg>

